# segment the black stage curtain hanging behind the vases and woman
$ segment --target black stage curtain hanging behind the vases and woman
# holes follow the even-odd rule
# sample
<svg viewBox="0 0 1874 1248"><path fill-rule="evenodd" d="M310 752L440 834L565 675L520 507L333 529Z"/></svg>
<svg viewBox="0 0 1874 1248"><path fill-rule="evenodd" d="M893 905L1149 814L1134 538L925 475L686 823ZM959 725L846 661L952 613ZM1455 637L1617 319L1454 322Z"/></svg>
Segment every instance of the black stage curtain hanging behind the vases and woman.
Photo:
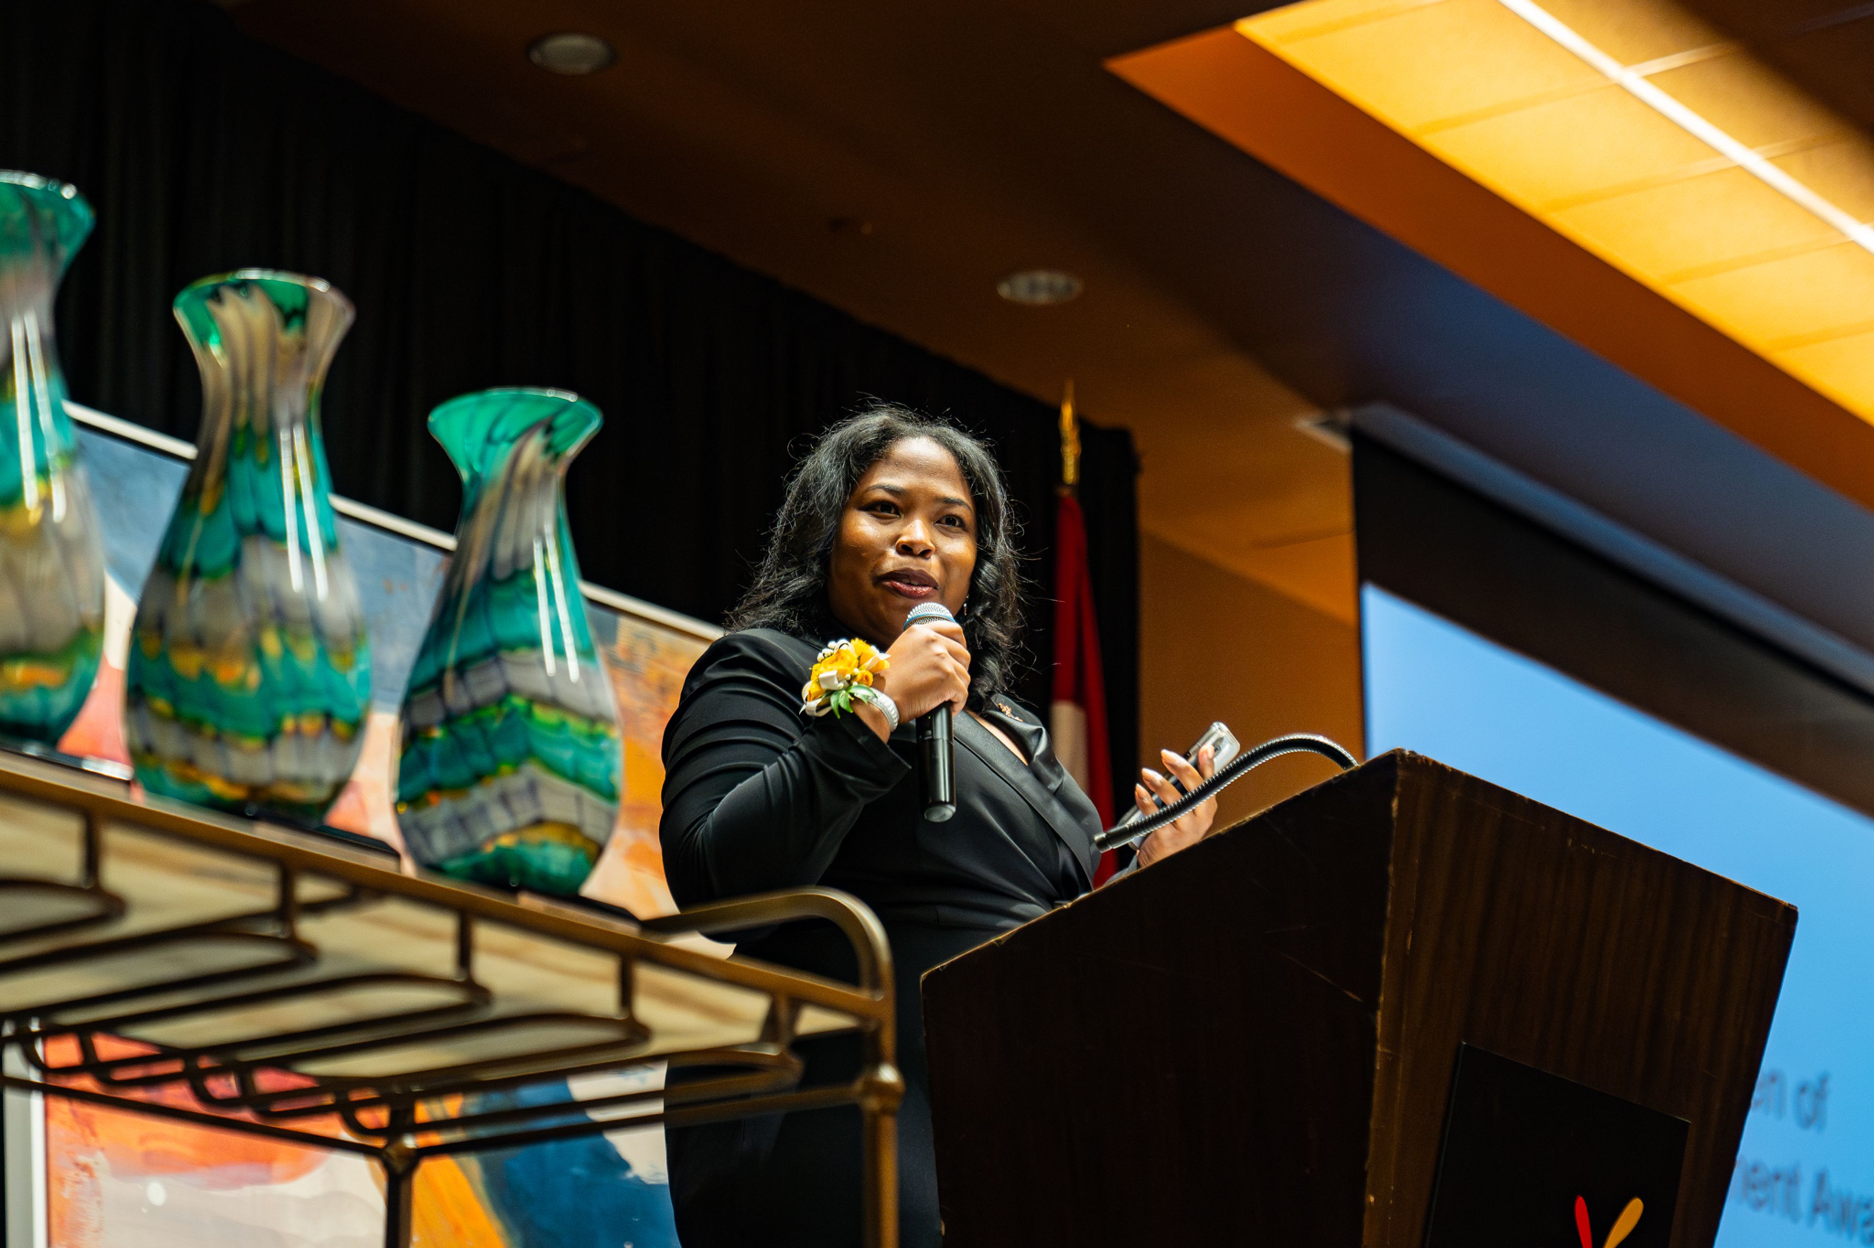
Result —
<svg viewBox="0 0 1874 1248"><path fill-rule="evenodd" d="M0 6L0 165L97 210L60 300L73 397L193 437L201 392L169 302L242 266L358 305L324 399L339 493L454 528L431 407L500 384L577 390L607 427L572 470L585 575L706 620L748 579L791 452L866 395L993 438L1034 555L1046 706L1053 410L244 36L189 0ZM1138 757L1130 435L1085 427L1081 500L1115 772ZM152 517L159 523L161 517ZM1123 785L1115 785L1123 789Z"/></svg>

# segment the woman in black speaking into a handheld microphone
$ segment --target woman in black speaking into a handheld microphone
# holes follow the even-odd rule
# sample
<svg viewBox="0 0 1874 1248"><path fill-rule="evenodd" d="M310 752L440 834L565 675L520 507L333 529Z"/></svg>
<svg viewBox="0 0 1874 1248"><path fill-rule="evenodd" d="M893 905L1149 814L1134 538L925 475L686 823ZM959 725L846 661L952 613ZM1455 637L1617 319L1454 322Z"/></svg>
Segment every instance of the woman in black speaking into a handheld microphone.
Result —
<svg viewBox="0 0 1874 1248"><path fill-rule="evenodd" d="M918 603L943 603L958 622L905 628ZM789 480L729 628L690 671L663 733L671 892L690 907L826 884L879 914L905 1076L901 1244L931 1248L943 1231L918 976L1087 892L1100 832L1048 731L1006 690L1021 594L995 459L952 425L900 407L834 425ZM838 641L853 645L828 656L830 684L847 690L836 699L828 682L810 686L810 673ZM937 706L954 714L956 815L928 823L913 720ZM1197 766L1169 751L1164 761L1169 778L1141 776L1141 810L1179 796L1171 778L1190 787L1212 770L1209 753ZM1154 832L1138 864L1197 841L1214 813L1207 802ZM783 926L740 952L855 976L851 946L825 924ZM800 1051L813 1081L858 1070L851 1036ZM686 1248L860 1242L856 1109L673 1130L669 1166Z"/></svg>

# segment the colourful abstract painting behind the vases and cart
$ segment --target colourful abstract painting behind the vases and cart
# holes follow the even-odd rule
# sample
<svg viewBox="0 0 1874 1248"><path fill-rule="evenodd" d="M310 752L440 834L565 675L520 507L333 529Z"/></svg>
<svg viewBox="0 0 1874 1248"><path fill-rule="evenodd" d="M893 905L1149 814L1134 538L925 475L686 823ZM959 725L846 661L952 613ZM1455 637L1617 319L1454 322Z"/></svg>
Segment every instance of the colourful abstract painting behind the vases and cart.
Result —
<svg viewBox="0 0 1874 1248"><path fill-rule="evenodd" d="M127 763L120 725L135 594L156 557L184 461L96 429L81 431L111 572L105 661L60 746ZM328 821L401 845L392 811L397 705L448 553L349 519L347 551L371 620L373 708L364 757ZM635 914L675 909L658 853L663 723L706 626L678 628L592 602L590 618L624 735L618 826L587 896ZM656 1087L632 1070L528 1092L549 1100ZM650 1111L650 1109L647 1109ZM51 1248L364 1248L382 1244L377 1167L356 1156L49 1100ZM628 1128L418 1171L416 1244L459 1248L677 1248L663 1136Z"/></svg>

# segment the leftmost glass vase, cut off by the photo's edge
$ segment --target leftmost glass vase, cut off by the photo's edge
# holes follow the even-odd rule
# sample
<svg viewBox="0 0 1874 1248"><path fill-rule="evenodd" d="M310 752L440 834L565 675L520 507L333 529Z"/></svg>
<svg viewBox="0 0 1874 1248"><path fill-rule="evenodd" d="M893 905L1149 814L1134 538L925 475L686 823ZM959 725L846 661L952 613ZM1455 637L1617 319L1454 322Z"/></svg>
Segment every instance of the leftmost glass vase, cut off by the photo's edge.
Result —
<svg viewBox="0 0 1874 1248"><path fill-rule="evenodd" d="M92 232L64 182L0 172L0 733L56 744L97 676L105 557L52 298Z"/></svg>

